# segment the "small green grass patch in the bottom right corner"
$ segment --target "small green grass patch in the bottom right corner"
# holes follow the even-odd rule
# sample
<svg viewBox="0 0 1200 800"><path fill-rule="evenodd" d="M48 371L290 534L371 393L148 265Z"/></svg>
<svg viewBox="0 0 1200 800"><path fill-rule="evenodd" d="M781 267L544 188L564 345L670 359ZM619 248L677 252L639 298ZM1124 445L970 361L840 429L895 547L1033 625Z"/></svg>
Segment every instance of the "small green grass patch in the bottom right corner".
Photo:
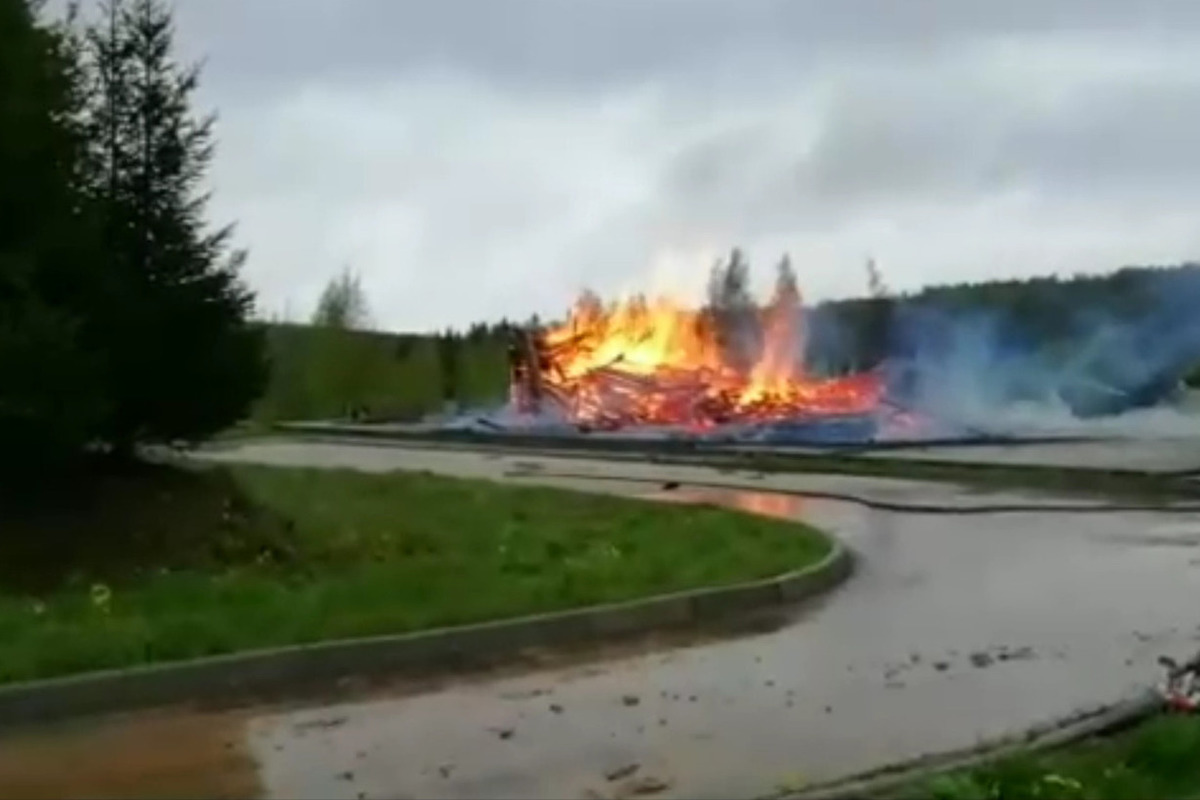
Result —
<svg viewBox="0 0 1200 800"><path fill-rule="evenodd" d="M1114 736L950 772L904 796L940 800L1200 798L1200 716L1158 716Z"/></svg>

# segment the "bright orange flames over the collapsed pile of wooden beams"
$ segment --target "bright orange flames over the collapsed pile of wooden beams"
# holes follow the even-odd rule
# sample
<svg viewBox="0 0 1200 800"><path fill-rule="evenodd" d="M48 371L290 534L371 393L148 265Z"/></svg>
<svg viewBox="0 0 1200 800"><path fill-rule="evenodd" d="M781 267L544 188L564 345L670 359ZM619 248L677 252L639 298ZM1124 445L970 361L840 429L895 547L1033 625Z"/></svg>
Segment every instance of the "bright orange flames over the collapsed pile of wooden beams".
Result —
<svg viewBox="0 0 1200 800"><path fill-rule="evenodd" d="M643 296L606 305L586 293L532 345L533 393L575 422L604 428L704 428L874 411L882 391L876 373L808 374L803 323L786 263L764 306L710 302L696 309Z"/></svg>

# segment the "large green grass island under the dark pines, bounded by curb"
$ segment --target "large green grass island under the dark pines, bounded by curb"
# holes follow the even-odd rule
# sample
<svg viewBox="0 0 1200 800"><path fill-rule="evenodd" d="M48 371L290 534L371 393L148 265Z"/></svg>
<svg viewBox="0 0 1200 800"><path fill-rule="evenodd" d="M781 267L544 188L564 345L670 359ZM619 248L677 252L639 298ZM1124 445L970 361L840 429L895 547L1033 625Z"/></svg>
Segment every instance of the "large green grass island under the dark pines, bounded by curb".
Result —
<svg viewBox="0 0 1200 800"><path fill-rule="evenodd" d="M143 465L86 485L0 516L0 682L626 600L829 549L732 511L424 474Z"/></svg>

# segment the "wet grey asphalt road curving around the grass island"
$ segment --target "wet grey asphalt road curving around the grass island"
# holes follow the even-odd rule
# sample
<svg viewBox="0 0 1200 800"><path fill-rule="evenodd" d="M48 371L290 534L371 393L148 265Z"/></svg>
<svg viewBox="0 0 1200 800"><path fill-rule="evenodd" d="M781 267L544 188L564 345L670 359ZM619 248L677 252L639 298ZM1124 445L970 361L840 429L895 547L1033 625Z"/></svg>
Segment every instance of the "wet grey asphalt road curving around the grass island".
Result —
<svg viewBox="0 0 1200 800"><path fill-rule="evenodd" d="M1110 702L1156 680L1159 654L1200 638L1195 513L892 513L763 489L950 507L1054 501L894 480L397 447L264 443L209 457L716 501L812 522L862 557L850 582L770 633L223 722L257 789L275 798L754 796ZM581 470L734 488L662 492L553 475ZM169 738L156 730L158 741ZM4 775L0 756L0 796Z"/></svg>

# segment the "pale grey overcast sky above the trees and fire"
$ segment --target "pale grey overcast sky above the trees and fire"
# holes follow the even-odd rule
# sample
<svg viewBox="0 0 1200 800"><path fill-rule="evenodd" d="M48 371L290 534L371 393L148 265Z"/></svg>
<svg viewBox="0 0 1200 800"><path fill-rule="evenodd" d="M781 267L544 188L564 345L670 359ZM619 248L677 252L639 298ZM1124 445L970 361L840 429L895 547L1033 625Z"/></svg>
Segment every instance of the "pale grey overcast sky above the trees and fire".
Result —
<svg viewBox="0 0 1200 800"><path fill-rule="evenodd" d="M1200 257L1195 0L176 0L269 313L809 299Z"/></svg>

